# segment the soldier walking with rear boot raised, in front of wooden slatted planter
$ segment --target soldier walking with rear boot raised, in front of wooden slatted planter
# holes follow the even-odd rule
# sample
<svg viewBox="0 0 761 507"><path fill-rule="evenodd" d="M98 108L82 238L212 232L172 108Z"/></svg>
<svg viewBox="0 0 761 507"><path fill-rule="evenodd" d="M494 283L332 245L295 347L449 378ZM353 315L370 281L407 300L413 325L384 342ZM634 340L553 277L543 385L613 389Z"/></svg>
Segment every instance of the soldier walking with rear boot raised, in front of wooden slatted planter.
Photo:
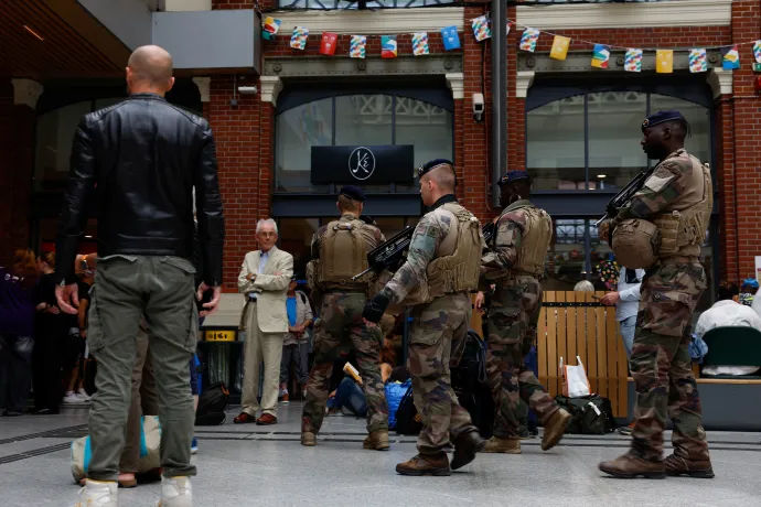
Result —
<svg viewBox="0 0 761 507"><path fill-rule="evenodd" d="M560 441L570 414L559 408L528 369L523 358L536 342L542 311L544 261L553 237L553 220L534 206L530 179L511 171L501 180L497 231L491 250L481 259L481 284L496 284L489 313L486 377L494 397L494 435L484 452L521 454L521 399L544 424L542 449ZM483 302L479 293L476 308Z"/></svg>

